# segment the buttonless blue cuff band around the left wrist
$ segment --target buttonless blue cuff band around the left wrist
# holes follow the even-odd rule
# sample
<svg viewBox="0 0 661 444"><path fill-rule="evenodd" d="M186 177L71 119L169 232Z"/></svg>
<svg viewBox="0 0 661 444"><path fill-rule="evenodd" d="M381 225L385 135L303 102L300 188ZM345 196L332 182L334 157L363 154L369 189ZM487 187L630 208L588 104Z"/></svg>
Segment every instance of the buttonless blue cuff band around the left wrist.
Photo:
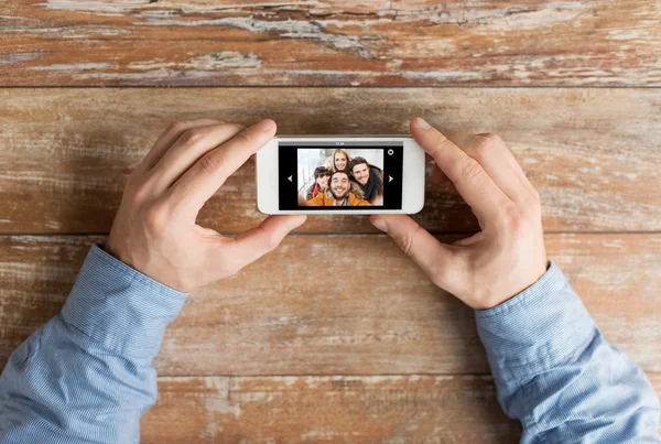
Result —
<svg viewBox="0 0 661 444"><path fill-rule="evenodd" d="M101 247L91 246L62 316L109 351L153 358L187 293L154 281Z"/></svg>

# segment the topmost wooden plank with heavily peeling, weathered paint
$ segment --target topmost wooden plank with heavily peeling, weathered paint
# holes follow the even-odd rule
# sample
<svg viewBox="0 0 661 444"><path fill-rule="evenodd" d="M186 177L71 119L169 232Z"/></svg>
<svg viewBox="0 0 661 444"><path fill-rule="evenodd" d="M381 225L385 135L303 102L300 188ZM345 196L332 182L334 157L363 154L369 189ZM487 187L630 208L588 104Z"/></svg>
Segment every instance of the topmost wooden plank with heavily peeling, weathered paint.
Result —
<svg viewBox="0 0 661 444"><path fill-rule="evenodd" d="M660 19L654 0L19 0L0 85L659 86Z"/></svg>

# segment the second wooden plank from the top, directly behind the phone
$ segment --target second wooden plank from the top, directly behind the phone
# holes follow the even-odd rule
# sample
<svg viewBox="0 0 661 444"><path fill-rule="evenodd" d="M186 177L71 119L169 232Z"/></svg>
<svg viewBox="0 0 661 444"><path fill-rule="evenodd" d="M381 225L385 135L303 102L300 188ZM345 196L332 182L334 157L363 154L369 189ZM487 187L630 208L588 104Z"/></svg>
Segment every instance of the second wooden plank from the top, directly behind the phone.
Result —
<svg viewBox="0 0 661 444"><path fill-rule="evenodd" d="M107 232L124 176L176 119L268 116L281 134L356 134L408 133L414 115L500 133L540 191L548 231L661 230L660 108L657 89L4 89L0 232ZM431 183L426 196L425 228L477 229L462 199ZM262 218L248 163L198 220L231 232ZM355 216L311 217L301 230L376 229Z"/></svg>

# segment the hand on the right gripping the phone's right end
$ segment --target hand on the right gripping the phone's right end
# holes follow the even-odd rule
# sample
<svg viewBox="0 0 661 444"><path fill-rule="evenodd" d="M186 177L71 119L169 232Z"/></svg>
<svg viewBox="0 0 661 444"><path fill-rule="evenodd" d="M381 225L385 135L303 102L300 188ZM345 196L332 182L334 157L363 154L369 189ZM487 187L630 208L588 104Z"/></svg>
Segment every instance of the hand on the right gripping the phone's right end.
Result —
<svg viewBox="0 0 661 444"><path fill-rule="evenodd" d="M448 139L420 119L411 134L434 160L435 182L466 201L481 231L441 243L405 215L373 215L432 282L476 310L491 308L532 285L546 271L540 197L495 134Z"/></svg>

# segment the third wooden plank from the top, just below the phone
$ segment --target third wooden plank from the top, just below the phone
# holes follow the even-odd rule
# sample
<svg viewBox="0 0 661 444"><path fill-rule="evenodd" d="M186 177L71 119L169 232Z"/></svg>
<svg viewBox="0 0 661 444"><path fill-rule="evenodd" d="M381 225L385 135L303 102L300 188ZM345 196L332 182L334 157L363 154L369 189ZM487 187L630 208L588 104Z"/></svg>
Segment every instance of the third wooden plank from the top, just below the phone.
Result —
<svg viewBox="0 0 661 444"><path fill-rule="evenodd" d="M59 311L98 239L0 237L0 368ZM546 246L606 337L661 371L661 235L548 235ZM163 376L489 371L472 310L381 235L286 238L191 294L155 366Z"/></svg>

